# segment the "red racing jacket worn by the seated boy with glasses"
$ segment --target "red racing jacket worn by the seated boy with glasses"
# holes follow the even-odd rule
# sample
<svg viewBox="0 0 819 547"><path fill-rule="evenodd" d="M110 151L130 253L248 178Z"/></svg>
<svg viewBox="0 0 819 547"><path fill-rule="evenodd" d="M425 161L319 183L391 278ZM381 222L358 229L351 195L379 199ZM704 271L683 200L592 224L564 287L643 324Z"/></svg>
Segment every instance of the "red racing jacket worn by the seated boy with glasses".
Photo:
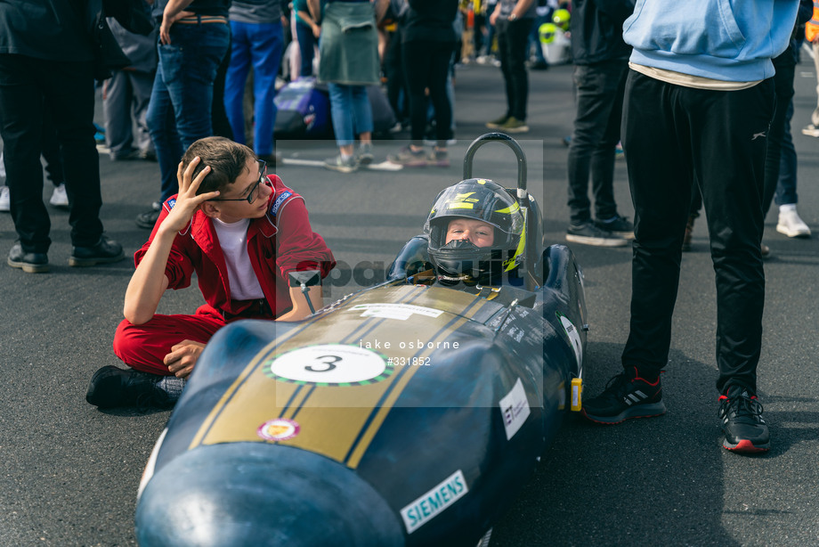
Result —
<svg viewBox="0 0 819 547"><path fill-rule="evenodd" d="M269 209L262 218L250 221L247 228L247 253L262 286L267 305L273 316L287 312L290 307L288 274L295 271L320 270L327 276L336 265L333 253L318 233L313 233L307 218L304 198L290 190L279 176L268 179L273 185ZM157 224L148 241L134 253L134 264L139 265L159 224L176 203L176 196L166 200ZM168 256L165 274L170 289L184 289L191 285L191 274L196 272L199 290L206 305L197 314L217 314L231 319L239 314L259 315L259 301L233 300L228 282L222 247L209 216L194 213L191 224L176 234ZM270 312L261 315L270 315Z"/></svg>

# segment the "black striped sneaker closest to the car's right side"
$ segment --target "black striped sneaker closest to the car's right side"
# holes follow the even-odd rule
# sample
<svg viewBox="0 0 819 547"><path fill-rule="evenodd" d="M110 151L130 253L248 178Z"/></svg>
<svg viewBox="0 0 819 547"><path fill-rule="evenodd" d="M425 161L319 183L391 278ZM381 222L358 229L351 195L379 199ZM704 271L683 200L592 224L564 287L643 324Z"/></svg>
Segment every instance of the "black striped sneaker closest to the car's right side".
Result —
<svg viewBox="0 0 819 547"><path fill-rule="evenodd" d="M665 414L660 378L649 382L630 367L609 380L603 393L583 401L582 412L588 420L607 425Z"/></svg>

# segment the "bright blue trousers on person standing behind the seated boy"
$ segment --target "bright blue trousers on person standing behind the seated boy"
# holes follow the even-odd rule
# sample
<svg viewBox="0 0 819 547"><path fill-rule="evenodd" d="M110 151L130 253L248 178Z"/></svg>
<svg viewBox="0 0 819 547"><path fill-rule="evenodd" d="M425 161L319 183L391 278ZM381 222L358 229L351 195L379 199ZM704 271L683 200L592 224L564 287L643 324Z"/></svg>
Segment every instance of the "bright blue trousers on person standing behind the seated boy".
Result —
<svg viewBox="0 0 819 547"><path fill-rule="evenodd" d="M247 72L253 64L254 134L256 155L273 151L276 122L276 74L279 72L284 32L281 23L240 23L231 20L231 64L224 81L224 110L233 130L233 140L244 144L245 115L242 100Z"/></svg>

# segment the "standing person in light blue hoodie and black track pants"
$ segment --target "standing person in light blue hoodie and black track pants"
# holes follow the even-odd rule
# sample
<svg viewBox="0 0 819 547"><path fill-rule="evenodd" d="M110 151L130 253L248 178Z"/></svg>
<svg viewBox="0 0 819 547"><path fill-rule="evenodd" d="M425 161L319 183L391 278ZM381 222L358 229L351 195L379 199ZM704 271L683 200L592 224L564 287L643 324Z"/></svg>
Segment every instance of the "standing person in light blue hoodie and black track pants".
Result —
<svg viewBox="0 0 819 547"><path fill-rule="evenodd" d="M669 363L696 181L717 287L718 420L723 447L735 453L771 446L757 378L765 307L762 199L774 114L771 60L788 46L799 2L749 5L638 0L623 25L632 45L622 122L635 210L631 320L622 371L582 409L604 424L666 412L661 371Z"/></svg>

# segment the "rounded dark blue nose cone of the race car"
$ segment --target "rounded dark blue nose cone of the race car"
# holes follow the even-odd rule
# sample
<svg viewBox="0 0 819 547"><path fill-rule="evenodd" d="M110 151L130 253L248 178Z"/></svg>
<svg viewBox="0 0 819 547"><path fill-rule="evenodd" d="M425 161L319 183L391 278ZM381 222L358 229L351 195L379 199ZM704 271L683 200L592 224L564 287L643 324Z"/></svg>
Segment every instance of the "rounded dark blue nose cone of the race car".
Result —
<svg viewBox="0 0 819 547"><path fill-rule="evenodd" d="M170 461L142 492L142 547L404 543L385 501L352 469L289 446L201 446Z"/></svg>

